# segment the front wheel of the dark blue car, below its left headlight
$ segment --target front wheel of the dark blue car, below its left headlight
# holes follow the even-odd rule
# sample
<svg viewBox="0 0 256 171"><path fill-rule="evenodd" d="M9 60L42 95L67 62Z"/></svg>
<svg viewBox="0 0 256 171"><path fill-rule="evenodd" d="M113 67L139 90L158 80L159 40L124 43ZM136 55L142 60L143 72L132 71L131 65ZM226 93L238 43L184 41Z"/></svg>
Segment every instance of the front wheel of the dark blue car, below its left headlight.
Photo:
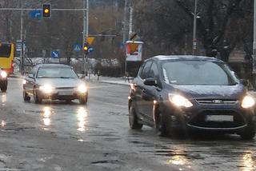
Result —
<svg viewBox="0 0 256 171"><path fill-rule="evenodd" d="M161 112L155 114L155 129L160 137L166 137L168 134L166 121Z"/></svg>

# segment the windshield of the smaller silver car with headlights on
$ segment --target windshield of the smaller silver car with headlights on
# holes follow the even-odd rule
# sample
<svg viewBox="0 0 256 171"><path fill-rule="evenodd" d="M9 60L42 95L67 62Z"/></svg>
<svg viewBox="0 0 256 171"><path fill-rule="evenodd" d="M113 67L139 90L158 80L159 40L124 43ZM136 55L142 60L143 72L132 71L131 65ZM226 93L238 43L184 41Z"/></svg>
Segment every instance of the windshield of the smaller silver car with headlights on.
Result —
<svg viewBox="0 0 256 171"><path fill-rule="evenodd" d="M37 78L78 78L69 67L40 67Z"/></svg>

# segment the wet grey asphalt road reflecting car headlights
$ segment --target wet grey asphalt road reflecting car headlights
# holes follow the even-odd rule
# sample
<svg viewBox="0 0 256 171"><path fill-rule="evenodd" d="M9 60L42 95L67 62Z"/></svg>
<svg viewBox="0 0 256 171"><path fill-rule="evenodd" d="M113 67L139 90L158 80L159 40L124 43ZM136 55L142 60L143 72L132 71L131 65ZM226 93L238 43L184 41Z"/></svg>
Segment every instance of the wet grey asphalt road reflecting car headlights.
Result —
<svg viewBox="0 0 256 171"><path fill-rule="evenodd" d="M236 135L158 137L128 126L129 87L90 82L88 105L0 93L0 170L256 170L256 145Z"/></svg>

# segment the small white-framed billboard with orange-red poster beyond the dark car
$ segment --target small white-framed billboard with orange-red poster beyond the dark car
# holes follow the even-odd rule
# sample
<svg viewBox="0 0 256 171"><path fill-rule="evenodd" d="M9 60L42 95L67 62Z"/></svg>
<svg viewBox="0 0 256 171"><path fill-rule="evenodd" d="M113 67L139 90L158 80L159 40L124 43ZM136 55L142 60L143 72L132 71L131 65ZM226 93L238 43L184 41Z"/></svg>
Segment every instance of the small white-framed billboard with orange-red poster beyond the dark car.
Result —
<svg viewBox="0 0 256 171"><path fill-rule="evenodd" d="M142 61L142 45L143 42L126 42L126 61L127 62L140 62Z"/></svg>

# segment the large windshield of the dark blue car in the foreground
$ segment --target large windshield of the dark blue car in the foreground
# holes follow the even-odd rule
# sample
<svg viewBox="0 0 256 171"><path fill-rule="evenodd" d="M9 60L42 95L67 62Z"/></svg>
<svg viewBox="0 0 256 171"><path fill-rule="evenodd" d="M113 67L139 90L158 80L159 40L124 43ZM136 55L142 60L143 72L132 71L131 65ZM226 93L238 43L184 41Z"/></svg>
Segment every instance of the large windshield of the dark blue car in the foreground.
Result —
<svg viewBox="0 0 256 171"><path fill-rule="evenodd" d="M238 78L221 62L164 62L165 81L177 85L235 85Z"/></svg>

